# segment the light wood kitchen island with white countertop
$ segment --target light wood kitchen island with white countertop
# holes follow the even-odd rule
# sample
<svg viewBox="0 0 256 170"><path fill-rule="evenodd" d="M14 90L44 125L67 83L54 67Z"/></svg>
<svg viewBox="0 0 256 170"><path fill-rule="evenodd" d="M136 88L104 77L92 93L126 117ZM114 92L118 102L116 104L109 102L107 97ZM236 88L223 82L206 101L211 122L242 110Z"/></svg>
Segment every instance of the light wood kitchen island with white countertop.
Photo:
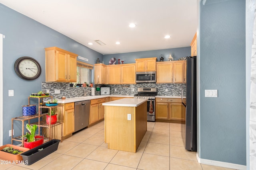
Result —
<svg viewBox="0 0 256 170"><path fill-rule="evenodd" d="M136 152L147 131L147 99L124 98L102 105L108 149Z"/></svg>

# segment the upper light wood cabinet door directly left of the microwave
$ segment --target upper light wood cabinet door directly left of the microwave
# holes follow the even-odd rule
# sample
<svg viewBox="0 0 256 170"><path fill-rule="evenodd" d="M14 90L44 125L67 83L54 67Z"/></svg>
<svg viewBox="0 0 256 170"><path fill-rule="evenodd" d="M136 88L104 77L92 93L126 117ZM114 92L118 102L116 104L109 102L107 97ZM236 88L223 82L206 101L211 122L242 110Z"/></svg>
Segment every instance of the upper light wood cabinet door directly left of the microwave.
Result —
<svg viewBox="0 0 256 170"><path fill-rule="evenodd" d="M135 65L121 66L121 79L122 84L135 84Z"/></svg>

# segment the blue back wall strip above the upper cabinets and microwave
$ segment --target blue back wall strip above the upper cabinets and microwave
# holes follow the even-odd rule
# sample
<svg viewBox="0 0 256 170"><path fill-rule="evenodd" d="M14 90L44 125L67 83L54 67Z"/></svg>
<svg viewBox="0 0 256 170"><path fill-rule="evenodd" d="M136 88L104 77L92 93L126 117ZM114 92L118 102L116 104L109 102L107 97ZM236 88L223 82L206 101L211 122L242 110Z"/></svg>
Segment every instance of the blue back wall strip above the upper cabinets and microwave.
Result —
<svg viewBox="0 0 256 170"><path fill-rule="evenodd" d="M191 37L192 41L193 37ZM172 55L173 60L178 60L181 57L187 57L191 55L191 47L182 47L182 48L173 48L173 49L161 49L161 50L151 50L151 51L139 51L132 53L119 53L119 54L109 54L104 55L103 61L104 64L108 65L108 62L112 57L116 58L116 64L118 64L118 60L124 61L125 64L135 63L134 59L140 58L150 58L157 57L158 61L160 61L160 55L164 55L164 61L168 61L169 55ZM101 62L102 63L102 62Z"/></svg>

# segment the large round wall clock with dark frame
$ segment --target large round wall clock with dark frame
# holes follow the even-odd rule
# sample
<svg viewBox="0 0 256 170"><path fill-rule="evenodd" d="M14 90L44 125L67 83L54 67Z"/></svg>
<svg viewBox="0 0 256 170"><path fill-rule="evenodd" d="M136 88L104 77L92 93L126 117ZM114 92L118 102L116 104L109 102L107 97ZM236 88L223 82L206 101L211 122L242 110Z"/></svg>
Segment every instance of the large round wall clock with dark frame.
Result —
<svg viewBox="0 0 256 170"><path fill-rule="evenodd" d="M24 80L35 80L41 74L41 66L32 57L20 57L15 61L14 70Z"/></svg>

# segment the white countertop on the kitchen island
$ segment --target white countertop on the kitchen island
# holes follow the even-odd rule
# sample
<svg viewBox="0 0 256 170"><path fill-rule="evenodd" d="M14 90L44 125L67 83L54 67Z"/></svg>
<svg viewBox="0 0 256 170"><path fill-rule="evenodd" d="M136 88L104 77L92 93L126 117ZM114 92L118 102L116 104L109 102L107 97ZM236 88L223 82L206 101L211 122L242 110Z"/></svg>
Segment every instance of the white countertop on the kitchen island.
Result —
<svg viewBox="0 0 256 170"><path fill-rule="evenodd" d="M148 99L134 99L134 98L124 98L120 100L114 100L111 102L103 103L103 106L127 106L127 107L137 107L140 104L146 102Z"/></svg>

